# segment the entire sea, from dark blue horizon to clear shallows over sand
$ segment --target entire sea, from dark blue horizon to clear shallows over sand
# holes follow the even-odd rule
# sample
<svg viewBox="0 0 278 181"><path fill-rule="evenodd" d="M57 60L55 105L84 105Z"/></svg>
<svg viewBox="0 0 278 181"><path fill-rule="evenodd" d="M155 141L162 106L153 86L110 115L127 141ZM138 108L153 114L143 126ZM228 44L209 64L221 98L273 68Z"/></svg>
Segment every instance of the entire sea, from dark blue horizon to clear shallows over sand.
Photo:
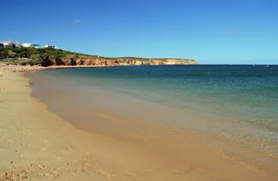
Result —
<svg viewBox="0 0 278 181"><path fill-rule="evenodd" d="M169 127L235 162L278 171L278 65L63 68L27 77L33 97L81 129L101 132L98 117L152 124L146 132L163 127L166 136Z"/></svg>

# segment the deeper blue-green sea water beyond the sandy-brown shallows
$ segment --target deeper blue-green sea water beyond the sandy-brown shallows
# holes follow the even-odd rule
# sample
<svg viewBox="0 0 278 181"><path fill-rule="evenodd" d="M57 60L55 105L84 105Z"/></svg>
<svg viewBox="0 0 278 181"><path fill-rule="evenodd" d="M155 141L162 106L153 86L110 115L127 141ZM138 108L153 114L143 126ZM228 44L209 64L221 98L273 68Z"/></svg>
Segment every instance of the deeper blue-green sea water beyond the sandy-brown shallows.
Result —
<svg viewBox="0 0 278 181"><path fill-rule="evenodd" d="M134 66L47 70L88 90L117 91L278 131L278 66Z"/></svg>

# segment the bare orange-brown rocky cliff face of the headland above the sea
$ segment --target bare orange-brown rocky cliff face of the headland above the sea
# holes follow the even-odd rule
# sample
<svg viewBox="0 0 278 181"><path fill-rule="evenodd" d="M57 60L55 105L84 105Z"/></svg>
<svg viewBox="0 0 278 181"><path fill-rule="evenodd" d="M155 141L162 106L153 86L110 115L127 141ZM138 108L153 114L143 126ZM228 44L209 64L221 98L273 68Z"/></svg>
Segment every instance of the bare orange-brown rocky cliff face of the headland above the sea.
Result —
<svg viewBox="0 0 278 181"><path fill-rule="evenodd" d="M119 65L196 65L197 61L192 59L162 58L162 59L143 59L143 58L61 58L60 60L51 59L45 62L44 66L49 65L95 65L97 67L119 66Z"/></svg>

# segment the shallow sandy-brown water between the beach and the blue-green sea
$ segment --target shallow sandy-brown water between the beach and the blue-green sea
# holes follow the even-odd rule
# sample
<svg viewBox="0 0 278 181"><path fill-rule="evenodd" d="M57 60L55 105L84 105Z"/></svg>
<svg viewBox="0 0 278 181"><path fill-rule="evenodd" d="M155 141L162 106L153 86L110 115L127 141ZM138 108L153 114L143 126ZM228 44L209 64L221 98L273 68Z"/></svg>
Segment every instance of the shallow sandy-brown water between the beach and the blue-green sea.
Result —
<svg viewBox="0 0 278 181"><path fill-rule="evenodd" d="M58 72L60 70L52 72L55 77L44 71L27 74L33 84L32 96L48 104L49 111L57 113L76 127L126 141L131 141L131 136L148 141L156 139L161 143L176 141L184 144L183 140L191 136L193 141L202 142L249 169L272 173L277 171L274 157L277 143L275 132L229 117L221 118L190 108L170 107L136 94L115 91L112 87L113 91L109 91L109 88L92 91L93 85L99 87L97 82L92 86L75 84L78 79L75 80L75 76L70 74L67 74L71 77L69 80L65 77L56 79L59 77ZM73 92L70 91L71 87L75 87ZM235 134L237 132L240 134ZM175 155L173 149L167 150ZM183 150L186 152L186 148Z"/></svg>

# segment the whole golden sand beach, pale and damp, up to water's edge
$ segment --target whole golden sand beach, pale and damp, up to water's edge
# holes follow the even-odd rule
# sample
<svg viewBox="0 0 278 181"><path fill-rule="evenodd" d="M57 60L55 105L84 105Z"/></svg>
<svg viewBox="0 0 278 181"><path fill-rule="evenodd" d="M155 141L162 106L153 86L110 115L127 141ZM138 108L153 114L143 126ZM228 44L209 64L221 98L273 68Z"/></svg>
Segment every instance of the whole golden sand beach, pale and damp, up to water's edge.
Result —
<svg viewBox="0 0 278 181"><path fill-rule="evenodd" d="M76 129L31 97L22 75L0 72L0 180L278 180L193 139L171 155L162 151L171 144L133 144Z"/></svg>

